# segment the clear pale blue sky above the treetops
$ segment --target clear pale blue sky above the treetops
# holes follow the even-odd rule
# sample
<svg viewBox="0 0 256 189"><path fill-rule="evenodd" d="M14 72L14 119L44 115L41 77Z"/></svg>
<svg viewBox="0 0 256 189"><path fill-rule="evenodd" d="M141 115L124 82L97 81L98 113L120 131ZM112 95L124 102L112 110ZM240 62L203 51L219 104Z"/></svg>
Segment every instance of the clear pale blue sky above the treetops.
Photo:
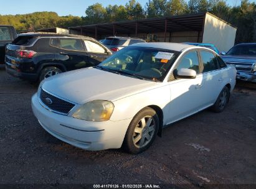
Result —
<svg viewBox="0 0 256 189"><path fill-rule="evenodd" d="M85 9L88 6L99 2L103 6L108 6L108 4L123 4L129 0L26 0L24 2L19 0L0 0L0 14L27 14L32 12L40 11L53 11L57 12L59 16L67 16L69 14L73 16L85 16ZM140 2L142 7L145 7L148 0L137 0ZM256 0L250 0L250 2L256 2ZM240 0L227 0L230 6L235 6L240 4Z"/></svg>

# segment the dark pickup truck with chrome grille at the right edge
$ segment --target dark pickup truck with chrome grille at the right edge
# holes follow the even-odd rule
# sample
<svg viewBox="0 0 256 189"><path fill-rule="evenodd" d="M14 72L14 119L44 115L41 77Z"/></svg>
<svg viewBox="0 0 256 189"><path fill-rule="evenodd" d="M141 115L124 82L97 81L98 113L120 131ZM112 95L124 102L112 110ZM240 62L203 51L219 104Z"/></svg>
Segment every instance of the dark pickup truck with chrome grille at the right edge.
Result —
<svg viewBox="0 0 256 189"><path fill-rule="evenodd" d="M256 43L238 44L220 54L225 63L235 65L237 79L256 82Z"/></svg>

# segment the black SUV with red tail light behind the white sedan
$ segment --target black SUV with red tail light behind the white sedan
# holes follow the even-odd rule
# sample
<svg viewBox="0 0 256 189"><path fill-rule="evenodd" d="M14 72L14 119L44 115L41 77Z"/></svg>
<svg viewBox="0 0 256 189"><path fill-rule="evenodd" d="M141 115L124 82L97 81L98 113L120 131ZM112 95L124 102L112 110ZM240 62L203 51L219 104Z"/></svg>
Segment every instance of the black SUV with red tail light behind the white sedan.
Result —
<svg viewBox="0 0 256 189"><path fill-rule="evenodd" d="M42 81L64 71L98 65L111 54L90 37L21 34L6 46L6 71L22 79Z"/></svg>

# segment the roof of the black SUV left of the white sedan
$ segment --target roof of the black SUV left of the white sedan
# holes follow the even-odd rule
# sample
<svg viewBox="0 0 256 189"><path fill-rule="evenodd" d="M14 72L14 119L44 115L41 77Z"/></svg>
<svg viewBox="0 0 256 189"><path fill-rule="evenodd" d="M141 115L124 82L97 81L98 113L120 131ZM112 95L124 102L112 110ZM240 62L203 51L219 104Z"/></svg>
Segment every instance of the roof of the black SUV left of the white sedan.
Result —
<svg viewBox="0 0 256 189"><path fill-rule="evenodd" d="M33 36L33 37L75 37L82 39L93 39L92 37L87 37L84 35L73 35L73 34L55 34L50 32L28 32L24 34L19 34L19 36Z"/></svg>

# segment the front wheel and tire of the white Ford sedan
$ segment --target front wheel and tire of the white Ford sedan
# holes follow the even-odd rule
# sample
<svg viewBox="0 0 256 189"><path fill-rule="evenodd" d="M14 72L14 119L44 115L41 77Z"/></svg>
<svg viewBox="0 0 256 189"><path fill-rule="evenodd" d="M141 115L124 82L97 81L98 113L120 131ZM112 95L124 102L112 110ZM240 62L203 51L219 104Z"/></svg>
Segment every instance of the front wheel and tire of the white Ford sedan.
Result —
<svg viewBox="0 0 256 189"><path fill-rule="evenodd" d="M126 131L123 147L130 154L139 154L153 143L159 129L159 118L152 108L142 109Z"/></svg>

